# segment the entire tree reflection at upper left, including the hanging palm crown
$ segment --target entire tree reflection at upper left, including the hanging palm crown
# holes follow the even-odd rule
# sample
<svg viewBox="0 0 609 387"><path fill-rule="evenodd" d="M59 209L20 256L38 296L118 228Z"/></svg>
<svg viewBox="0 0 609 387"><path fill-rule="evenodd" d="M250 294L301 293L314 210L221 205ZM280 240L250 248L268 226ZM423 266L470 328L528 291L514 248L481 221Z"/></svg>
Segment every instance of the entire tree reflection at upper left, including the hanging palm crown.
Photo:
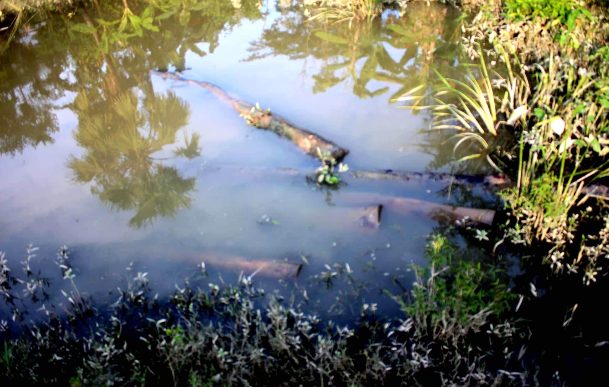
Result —
<svg viewBox="0 0 609 387"><path fill-rule="evenodd" d="M71 16L73 15L73 16ZM194 177L155 158L200 155L198 133L187 135L189 106L174 93L154 93L148 70L185 66L186 52L214 51L219 35L242 19L262 18L255 0L236 9L224 0L160 0L135 4L94 2L75 7L16 38L0 61L0 154L52 143L59 130L54 108L78 118L74 131L84 149L68 166L79 183L116 210L135 211L130 227L146 227L191 203ZM207 52L197 44L209 43ZM73 102L58 101L76 94Z"/></svg>

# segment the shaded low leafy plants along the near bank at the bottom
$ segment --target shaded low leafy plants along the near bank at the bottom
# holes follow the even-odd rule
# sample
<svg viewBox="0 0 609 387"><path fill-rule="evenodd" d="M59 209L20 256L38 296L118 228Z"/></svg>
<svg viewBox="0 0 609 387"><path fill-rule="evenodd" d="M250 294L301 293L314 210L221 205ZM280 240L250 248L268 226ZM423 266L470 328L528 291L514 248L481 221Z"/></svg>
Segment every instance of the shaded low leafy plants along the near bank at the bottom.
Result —
<svg viewBox="0 0 609 387"><path fill-rule="evenodd" d="M443 236L430 240L431 265L415 267L412 293L391 295L402 319L377 318L376 305L364 304L361 320L342 327L301 310L298 300L286 305L265 294L248 277L207 291L187 282L163 302L151 297L145 273L132 274L108 309L79 292L62 247L57 264L71 287L65 304L39 301L41 324L2 322L0 371L13 384L71 386L254 386L269 377L285 386L526 382L532 374L516 352L502 352L518 341L503 317L512 296L493 271L452 261L452 249ZM24 279L2 258L2 294L13 310L23 309L16 307L23 289L40 294L47 286L29 286L40 280L34 250Z"/></svg>

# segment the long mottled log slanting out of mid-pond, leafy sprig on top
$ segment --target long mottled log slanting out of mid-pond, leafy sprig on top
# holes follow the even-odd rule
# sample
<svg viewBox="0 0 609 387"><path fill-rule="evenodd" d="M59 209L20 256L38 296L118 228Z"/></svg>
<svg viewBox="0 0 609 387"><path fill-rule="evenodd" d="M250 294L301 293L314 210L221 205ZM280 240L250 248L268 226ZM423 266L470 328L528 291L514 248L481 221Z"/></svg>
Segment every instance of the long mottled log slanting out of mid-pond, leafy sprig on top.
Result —
<svg viewBox="0 0 609 387"><path fill-rule="evenodd" d="M230 102L230 104L233 105L241 115L246 116L247 120L254 126L259 129L272 130L281 137L292 141L292 143L296 144L306 154L313 157L319 157L317 153L318 147L322 152L330 154L337 161L342 160L342 158L349 153L348 149L344 149L332 141L326 140L309 130L301 128L275 113L268 113L264 110L256 109L255 105L252 105L249 102L231 98L226 91L213 83L186 79L178 74L164 71L150 70L150 73L156 74L164 79L179 80L181 82L191 83L192 85L206 88L218 98Z"/></svg>

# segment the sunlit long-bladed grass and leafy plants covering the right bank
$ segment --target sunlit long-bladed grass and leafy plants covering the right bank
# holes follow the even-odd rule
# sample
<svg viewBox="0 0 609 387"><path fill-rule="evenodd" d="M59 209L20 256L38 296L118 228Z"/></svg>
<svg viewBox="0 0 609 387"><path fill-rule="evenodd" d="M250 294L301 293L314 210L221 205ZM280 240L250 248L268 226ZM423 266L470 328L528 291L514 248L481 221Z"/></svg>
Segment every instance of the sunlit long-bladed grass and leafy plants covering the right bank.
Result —
<svg viewBox="0 0 609 387"><path fill-rule="evenodd" d="M571 0L509 0L476 12L462 27L462 56L473 63L452 77L436 72L431 104L418 105L428 97L412 93L398 101L431 109L433 130L454 131L454 152L470 144L459 161L485 157L513 178L501 193L511 216L507 240L539 247L552 269L590 283L605 266L588 254L605 249L590 238L596 232L579 227L591 218L604 227L596 219L604 206L582 194L609 173L604 11Z"/></svg>

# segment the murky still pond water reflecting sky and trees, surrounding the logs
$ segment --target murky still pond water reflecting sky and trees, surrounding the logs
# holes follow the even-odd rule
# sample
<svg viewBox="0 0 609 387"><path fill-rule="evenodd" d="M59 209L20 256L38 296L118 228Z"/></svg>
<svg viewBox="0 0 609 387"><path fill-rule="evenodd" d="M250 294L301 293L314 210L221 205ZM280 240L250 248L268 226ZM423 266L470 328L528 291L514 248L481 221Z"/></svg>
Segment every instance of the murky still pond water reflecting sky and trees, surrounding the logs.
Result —
<svg viewBox="0 0 609 387"><path fill-rule="evenodd" d="M305 178L319 160L247 126L204 88L149 69L180 70L270 107L350 149L351 169L448 172L446 138L420 132L429 114L390 101L426 82L431 66L454 68L456 10L413 4L401 17L328 26L307 23L286 2L168 2L166 12L133 11L153 15L138 36L131 24L118 31L122 3L108 3L31 26L3 54L0 250L9 265L18 266L29 243L40 246L33 266L49 265L66 244L81 290L104 294L125 282L131 262L170 291L200 274L210 254L220 257L206 265L214 283L219 274L236 278L231 257L307 261L289 288L315 282L335 263L349 263L370 289L395 288L387 273L398 268L412 282L406 268L424 265L438 222L414 208L383 211L379 229L365 229L354 215L359 202L378 204L370 194L442 203L459 195L449 198L443 183L348 176L337 189L320 189Z"/></svg>

